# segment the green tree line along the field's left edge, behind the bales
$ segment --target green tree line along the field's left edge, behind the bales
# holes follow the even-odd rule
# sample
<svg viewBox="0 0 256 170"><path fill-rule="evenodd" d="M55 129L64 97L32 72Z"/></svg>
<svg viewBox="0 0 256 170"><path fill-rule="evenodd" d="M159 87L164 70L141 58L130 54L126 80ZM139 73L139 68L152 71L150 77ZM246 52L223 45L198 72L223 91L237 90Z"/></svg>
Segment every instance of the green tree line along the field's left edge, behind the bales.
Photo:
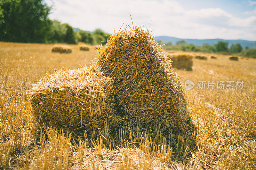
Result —
<svg viewBox="0 0 256 170"><path fill-rule="evenodd" d="M68 24L49 19L52 7L43 0L1 0L0 41L32 43L103 44L108 33L74 30Z"/></svg>

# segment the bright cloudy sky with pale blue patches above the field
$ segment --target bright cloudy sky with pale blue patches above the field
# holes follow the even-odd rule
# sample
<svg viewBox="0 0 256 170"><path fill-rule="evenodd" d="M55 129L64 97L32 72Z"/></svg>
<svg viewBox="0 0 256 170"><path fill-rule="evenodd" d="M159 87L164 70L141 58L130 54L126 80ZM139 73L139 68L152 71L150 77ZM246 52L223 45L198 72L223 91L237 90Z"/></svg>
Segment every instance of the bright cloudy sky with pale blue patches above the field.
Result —
<svg viewBox="0 0 256 170"><path fill-rule="evenodd" d="M148 27L154 36L256 40L256 0L45 0L51 19L82 30L118 32L122 24Z"/></svg>

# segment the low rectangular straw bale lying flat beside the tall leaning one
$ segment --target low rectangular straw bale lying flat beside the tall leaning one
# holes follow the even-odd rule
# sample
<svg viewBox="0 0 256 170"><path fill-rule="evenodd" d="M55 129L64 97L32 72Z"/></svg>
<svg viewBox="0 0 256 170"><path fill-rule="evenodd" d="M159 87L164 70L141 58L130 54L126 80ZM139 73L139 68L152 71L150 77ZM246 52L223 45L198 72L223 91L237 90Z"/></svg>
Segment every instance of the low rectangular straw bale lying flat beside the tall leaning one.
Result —
<svg viewBox="0 0 256 170"><path fill-rule="evenodd" d="M39 124L108 136L118 123L112 95L111 78L93 67L60 71L28 90Z"/></svg>

